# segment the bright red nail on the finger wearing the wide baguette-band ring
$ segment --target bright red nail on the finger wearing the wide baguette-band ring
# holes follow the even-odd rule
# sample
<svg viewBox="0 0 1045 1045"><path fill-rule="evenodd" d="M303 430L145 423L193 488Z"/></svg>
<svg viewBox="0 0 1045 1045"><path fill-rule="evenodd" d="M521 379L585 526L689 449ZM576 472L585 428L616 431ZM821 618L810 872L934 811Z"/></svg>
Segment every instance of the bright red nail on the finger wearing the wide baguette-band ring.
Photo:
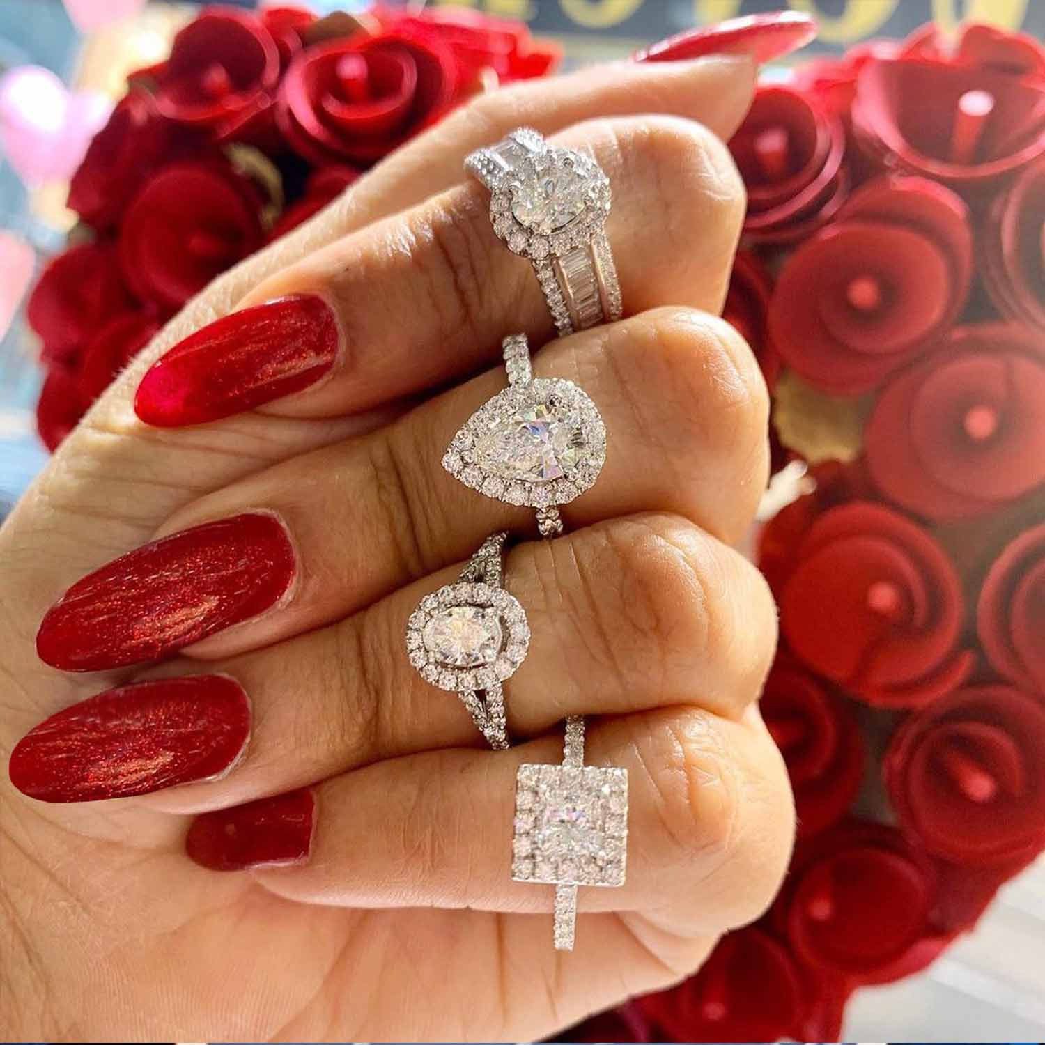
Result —
<svg viewBox="0 0 1045 1045"><path fill-rule="evenodd" d="M338 323L311 294L243 308L175 345L146 372L134 409L173 428L253 410L315 385L338 355Z"/></svg>

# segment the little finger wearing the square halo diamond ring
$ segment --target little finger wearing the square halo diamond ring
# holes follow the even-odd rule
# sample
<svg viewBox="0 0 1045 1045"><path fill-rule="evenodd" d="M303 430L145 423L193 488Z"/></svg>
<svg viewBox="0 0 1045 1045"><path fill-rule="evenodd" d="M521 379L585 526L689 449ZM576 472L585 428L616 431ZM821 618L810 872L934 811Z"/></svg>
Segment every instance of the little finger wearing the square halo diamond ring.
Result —
<svg viewBox="0 0 1045 1045"><path fill-rule="evenodd" d="M298 902L548 911L550 887L511 880L509 839L518 766L558 764L561 745L556 736L506 752L427 752L327 781L314 789L307 862L255 874ZM694 934L762 913L794 817L780 752L753 709L740 722L676 707L589 723L587 748L588 765L628 771L627 865L623 887L581 889L581 910L642 912ZM220 846L224 815L190 829L190 855L207 862L208 843Z"/></svg>

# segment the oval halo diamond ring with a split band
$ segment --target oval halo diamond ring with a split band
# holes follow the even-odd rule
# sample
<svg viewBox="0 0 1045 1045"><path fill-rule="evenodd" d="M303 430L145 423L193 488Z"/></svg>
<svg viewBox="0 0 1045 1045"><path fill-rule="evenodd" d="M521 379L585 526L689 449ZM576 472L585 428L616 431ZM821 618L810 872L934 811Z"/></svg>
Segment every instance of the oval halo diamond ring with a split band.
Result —
<svg viewBox="0 0 1045 1045"><path fill-rule="evenodd" d="M501 683L515 674L530 645L526 613L503 586L507 538L487 537L458 583L426 595L407 623L410 663L426 682L457 693L498 750L508 747Z"/></svg>

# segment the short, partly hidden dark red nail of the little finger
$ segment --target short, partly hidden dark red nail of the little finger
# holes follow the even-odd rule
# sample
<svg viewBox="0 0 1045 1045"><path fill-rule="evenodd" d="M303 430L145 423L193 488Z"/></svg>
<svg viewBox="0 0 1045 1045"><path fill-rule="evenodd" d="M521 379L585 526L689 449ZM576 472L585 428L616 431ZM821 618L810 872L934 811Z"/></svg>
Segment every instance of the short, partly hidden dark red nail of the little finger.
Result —
<svg viewBox="0 0 1045 1045"><path fill-rule="evenodd" d="M211 870L245 870L308 859L312 792L288 791L198 816L185 837L189 858Z"/></svg>

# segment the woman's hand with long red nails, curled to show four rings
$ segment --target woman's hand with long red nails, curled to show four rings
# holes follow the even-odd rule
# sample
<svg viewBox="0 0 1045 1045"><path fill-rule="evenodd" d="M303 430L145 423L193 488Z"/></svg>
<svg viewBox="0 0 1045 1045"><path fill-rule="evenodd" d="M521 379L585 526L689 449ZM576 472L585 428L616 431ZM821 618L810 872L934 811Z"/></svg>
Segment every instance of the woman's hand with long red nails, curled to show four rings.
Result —
<svg viewBox="0 0 1045 1045"><path fill-rule="evenodd" d="M3 749L150 684L25 741L36 799L0 787L8 1037L525 1041L762 911L793 816L756 703L774 609L730 545L767 397L714 318L744 210L721 142L752 87L750 62L703 60L473 102L223 277L67 439L0 531ZM551 340L462 181L519 123L608 173L622 322ZM262 304L292 295L317 297ZM521 742L491 752L402 636L490 532L532 532L440 467L517 330L609 449L566 535L508 557L533 637L505 687ZM510 839L516 767L559 761L568 714L599 716L588 761L628 769L631 809L627 885L581 890L560 953Z"/></svg>

